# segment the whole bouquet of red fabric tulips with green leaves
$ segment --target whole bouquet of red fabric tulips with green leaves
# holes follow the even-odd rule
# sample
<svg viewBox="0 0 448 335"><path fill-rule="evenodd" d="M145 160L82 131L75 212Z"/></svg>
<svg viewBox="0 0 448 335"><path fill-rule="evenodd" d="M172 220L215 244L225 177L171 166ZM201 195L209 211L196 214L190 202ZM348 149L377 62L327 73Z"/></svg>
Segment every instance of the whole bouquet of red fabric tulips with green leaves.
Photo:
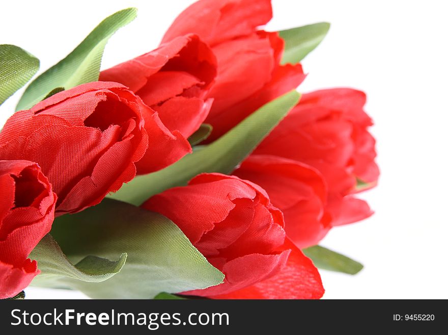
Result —
<svg viewBox="0 0 448 335"><path fill-rule="evenodd" d="M160 45L100 71L103 20L27 86L0 132L0 298L27 286L92 298L315 299L318 245L372 215L365 93L299 94L328 23L263 30L270 0L200 0ZM39 60L0 45L0 104Z"/></svg>

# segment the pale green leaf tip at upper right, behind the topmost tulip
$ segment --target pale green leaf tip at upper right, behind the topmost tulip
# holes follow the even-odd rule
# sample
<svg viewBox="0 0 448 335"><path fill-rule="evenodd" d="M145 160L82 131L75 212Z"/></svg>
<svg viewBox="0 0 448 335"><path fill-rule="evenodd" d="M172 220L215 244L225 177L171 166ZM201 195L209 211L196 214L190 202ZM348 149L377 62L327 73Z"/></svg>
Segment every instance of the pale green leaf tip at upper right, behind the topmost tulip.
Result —
<svg viewBox="0 0 448 335"><path fill-rule="evenodd" d="M282 64L297 64L324 39L330 23L320 22L278 32L285 40Z"/></svg>

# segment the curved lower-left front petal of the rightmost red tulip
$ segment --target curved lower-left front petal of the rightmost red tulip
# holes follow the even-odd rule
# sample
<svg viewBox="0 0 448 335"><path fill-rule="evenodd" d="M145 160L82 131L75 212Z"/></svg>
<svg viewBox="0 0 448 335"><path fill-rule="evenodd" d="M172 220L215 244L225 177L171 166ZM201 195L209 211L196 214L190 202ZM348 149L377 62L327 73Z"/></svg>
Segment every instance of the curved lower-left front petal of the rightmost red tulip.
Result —
<svg viewBox="0 0 448 335"><path fill-rule="evenodd" d="M327 187L309 165L278 156L250 155L234 175L260 185L285 216L288 238L299 248L318 244L331 228Z"/></svg>

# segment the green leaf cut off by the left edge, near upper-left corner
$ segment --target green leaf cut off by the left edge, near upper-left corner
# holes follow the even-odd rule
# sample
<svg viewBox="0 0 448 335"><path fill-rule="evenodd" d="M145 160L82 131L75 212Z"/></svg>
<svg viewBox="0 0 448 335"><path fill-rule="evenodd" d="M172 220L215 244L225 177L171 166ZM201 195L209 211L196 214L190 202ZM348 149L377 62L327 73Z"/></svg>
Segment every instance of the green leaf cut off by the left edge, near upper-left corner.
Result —
<svg viewBox="0 0 448 335"><path fill-rule="evenodd" d="M0 105L39 70L39 60L15 45L0 45Z"/></svg>

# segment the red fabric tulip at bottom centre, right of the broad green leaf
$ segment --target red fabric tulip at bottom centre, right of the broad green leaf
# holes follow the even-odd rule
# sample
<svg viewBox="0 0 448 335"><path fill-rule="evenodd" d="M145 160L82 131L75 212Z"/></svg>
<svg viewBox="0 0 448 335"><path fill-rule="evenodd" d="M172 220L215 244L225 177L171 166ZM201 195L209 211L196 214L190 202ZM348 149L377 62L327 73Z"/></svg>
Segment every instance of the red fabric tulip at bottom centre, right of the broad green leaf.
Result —
<svg viewBox="0 0 448 335"><path fill-rule="evenodd" d="M204 173L164 191L143 208L175 222L224 283L184 292L211 298L320 298L313 263L285 238L282 212L258 185L236 176Z"/></svg>

